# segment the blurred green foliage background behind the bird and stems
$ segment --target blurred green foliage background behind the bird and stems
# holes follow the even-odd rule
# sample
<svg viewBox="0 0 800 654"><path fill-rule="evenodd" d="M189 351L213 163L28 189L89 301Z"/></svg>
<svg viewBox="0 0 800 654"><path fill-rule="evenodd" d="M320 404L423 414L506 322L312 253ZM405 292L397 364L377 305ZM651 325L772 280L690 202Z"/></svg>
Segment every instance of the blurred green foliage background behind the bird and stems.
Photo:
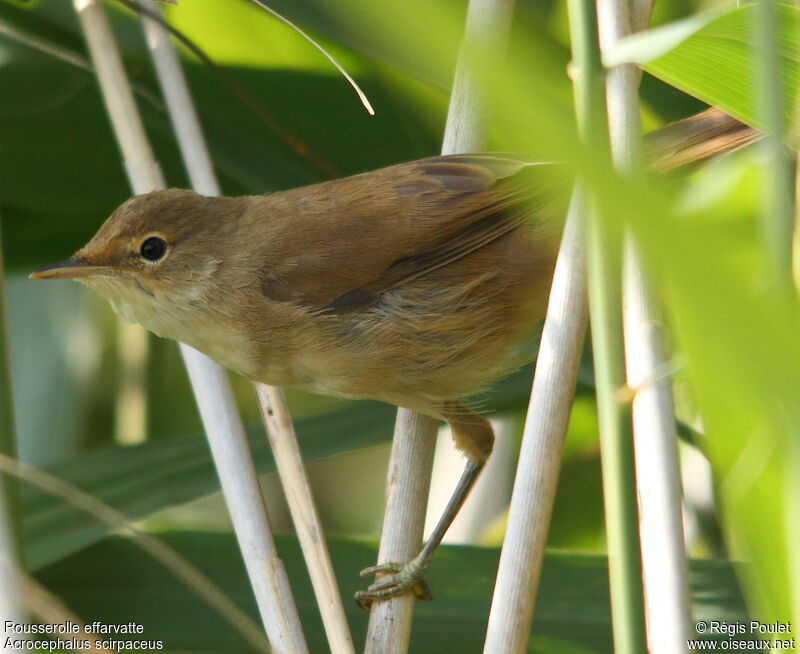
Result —
<svg viewBox="0 0 800 654"><path fill-rule="evenodd" d="M438 153L465 2L388 8L369 2L278 0L271 6L310 31L344 64L369 96L376 116L366 114L345 81L313 47L254 5L244 0L193 0L165 6L169 22L201 47L228 80L183 50L226 194L290 188ZM656 4L653 23L713 7L665 0ZM116 3L109 3L109 10L168 184L186 186L138 21ZM422 20L427 11L430 21ZM252 612L174 343L151 337L145 358L137 360L121 342L124 331L104 302L70 282L26 278L31 269L71 255L130 191L92 73L64 60L67 55L86 58L70 4L6 0L0 3L0 22L16 34L12 38L0 33L0 217L20 458L142 520L146 528L163 534L221 579ZM387 23L397 28L393 38L386 37ZM20 35L29 42L46 43L61 57L30 47ZM796 59L796 40L793 43L790 54ZM498 93L501 106L496 109L500 115L492 148L546 160L556 155L578 157L564 4L520 0L508 58L511 72L498 82L505 86ZM705 65L715 65L713 57ZM791 73L796 80L796 69ZM231 82L257 103L260 116L232 92ZM529 102L512 104L513 98ZM642 119L647 129L704 106L645 74ZM557 123L554 116L559 117ZM524 133L518 129L522 124ZM759 505L764 513L756 531L765 525L782 530L773 534L780 548L777 567L760 581L752 582L751 577L748 582L754 583L747 594L749 610L769 617L770 611L786 610L790 604L781 597L789 593L784 588L775 602L764 601L764 594L775 591L770 583L780 577L792 556L796 558L791 525L786 523L790 514L785 510L791 503L784 506L777 498L787 500L781 484L796 472L789 463L794 465L796 457L785 457L788 450L783 448L790 447L786 439L797 433L792 431L797 426L798 395L791 371L800 359L795 346L785 347L791 338L787 335L797 333L792 332L794 307L786 313L775 308L763 318L758 313L774 303L758 285L757 164L757 156L745 152L688 178L659 182L658 193L648 202L658 211L671 207L678 218L669 225L647 225L642 219L637 228L644 230L646 255L669 318L679 328L671 345L678 362L675 387L682 432L702 445L698 448L687 438L680 446L687 542L694 556L751 559L758 547L735 507L722 519L718 510L720 484L727 479L724 473L739 460L754 433L752 424L737 422L728 403L748 396L738 406L754 417L762 431L774 434L773 440L767 439L772 449L748 481L753 497L763 497L758 486L762 477L769 479L766 496L770 488L776 493L773 506ZM609 199L621 201L620 195ZM640 213L646 216L647 211ZM718 299L718 304L708 302L709 297ZM726 316L735 318L721 322ZM746 318L739 320L741 316ZM712 333L718 356L715 359L711 353L704 360L697 353L708 351L704 339ZM590 360L587 352L549 539L552 548L581 554L548 559L530 651L611 651L604 559L588 556L604 552ZM767 360L769 379L757 381L753 366ZM522 370L480 398L481 406L498 419L501 444L493 470L487 471L491 482L475 493L473 517L464 518L455 535L459 542L483 549L452 547L434 564L431 582L437 600L419 607L413 651L441 649L444 635L454 630L462 645L447 651L479 651L530 377L531 368ZM273 526L289 534L290 521L271 472L252 391L245 380L232 376L232 381L245 422L252 427L251 442L264 472ZM756 383L760 392L748 395ZM775 387L780 392L771 394ZM349 601L358 587L357 570L375 557L394 411L292 390L288 397L323 521L328 534L337 538L332 543L334 561ZM732 426L724 424L726 416ZM720 444L716 450L714 443ZM437 479L445 481L435 484L432 514L446 501L454 483L449 480L461 467L457 457L447 457L445 434L439 450ZM781 461L789 467L782 468ZM744 488L742 496L750 490ZM165 580L166 573L151 570L152 564L140 560L128 544L108 536L103 525L57 499L23 491L28 563L86 620L141 617L139 621L145 622L146 616L151 620L148 637L164 634L165 643L174 650L246 651L224 623L207 619L206 609L196 599L173 587ZM747 502L743 500L743 506ZM294 541L287 537L280 546L290 561L303 617L313 625L312 649L324 651ZM767 556L772 554L762 550L762 559ZM756 566L758 557L756 551ZM456 576L465 570L466 575ZM698 563L693 570L695 617L745 614L727 562ZM172 598L176 617L170 624L159 622L161 612L149 604L148 598L155 595ZM350 617L358 640L367 616L353 610ZM788 617L776 613L772 619ZM575 624L585 627L586 633L576 635Z"/></svg>

